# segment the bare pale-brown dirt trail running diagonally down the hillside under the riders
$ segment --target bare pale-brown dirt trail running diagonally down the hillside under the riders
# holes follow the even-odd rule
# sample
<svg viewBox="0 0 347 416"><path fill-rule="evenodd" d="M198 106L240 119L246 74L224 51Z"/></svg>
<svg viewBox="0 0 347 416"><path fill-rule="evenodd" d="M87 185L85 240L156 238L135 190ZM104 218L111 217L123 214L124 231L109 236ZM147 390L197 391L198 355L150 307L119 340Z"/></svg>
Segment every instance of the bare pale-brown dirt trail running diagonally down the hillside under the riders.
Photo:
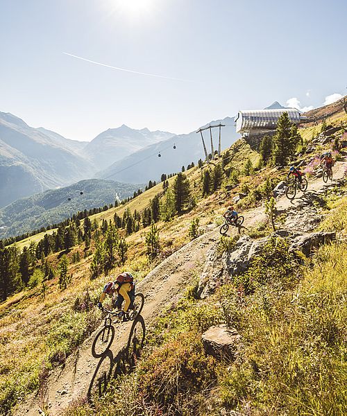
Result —
<svg viewBox="0 0 347 416"><path fill-rule="evenodd" d="M335 179L338 180L344 177L345 167L346 161L337 162L334 168ZM320 191L325 185L321 178L310 180L307 193ZM302 198L303 193L299 193L294 201L290 201L285 196L282 196L276 201L277 209L289 211L293 207L298 207ZM246 211L242 215L245 217L244 225L246 227L252 227L266 218L263 207ZM220 236L219 227L213 225L210 227L210 231L205 232L198 239L191 241L162 261L137 285L137 291L145 295L142 317L146 325L151 323L160 311L178 297L187 277L192 275L193 271L202 272L206 254L212 243L217 241ZM236 233L236 229L232 228L231 232L232 234ZM116 357L121 352L121 349L127 345L131 324L132 322L126 322L116 327L110 360ZM95 378L95 374L101 364L100 360L94 358L91 352L92 342L98 331L99 329L94 331L92 336L81 345L78 352L67 359L63 369L56 369L50 374L47 385L50 416L60 415L71 401L87 396L91 382ZM14 415L31 416L39 415L39 413L40 399L31 396L22 404L19 404Z"/></svg>

